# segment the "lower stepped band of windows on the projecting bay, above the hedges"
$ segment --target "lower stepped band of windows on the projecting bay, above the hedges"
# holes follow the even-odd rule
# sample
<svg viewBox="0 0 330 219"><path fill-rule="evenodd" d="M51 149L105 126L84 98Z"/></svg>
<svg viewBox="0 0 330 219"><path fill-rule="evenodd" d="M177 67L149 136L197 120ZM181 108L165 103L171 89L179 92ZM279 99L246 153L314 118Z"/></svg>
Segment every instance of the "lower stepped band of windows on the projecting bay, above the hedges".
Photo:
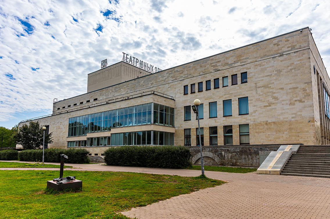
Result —
<svg viewBox="0 0 330 219"><path fill-rule="evenodd" d="M122 145L174 145L174 133L151 130L115 133L111 136L87 138L83 141L68 141L68 147Z"/></svg>

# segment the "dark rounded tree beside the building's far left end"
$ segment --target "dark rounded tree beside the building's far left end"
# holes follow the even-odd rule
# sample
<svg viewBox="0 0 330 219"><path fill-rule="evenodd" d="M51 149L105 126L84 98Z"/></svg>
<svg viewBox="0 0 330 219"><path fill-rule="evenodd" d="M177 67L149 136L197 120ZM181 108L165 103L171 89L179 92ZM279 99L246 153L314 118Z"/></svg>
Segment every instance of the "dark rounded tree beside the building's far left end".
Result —
<svg viewBox="0 0 330 219"><path fill-rule="evenodd" d="M53 143L52 134L45 133L45 143ZM13 138L17 144L22 145L24 149L41 148L44 141L44 130L40 126L39 121L29 122L29 125L23 124Z"/></svg>

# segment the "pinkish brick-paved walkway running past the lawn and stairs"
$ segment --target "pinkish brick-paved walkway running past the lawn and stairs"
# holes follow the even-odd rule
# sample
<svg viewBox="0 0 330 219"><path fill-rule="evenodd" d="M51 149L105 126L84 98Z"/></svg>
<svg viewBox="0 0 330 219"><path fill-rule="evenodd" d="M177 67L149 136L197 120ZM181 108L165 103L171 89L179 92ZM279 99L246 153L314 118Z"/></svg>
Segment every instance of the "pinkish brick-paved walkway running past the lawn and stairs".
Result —
<svg viewBox="0 0 330 219"><path fill-rule="evenodd" d="M201 174L198 170L101 164L68 165L73 168L65 170L124 171L179 176ZM228 181L228 183L173 197L146 207L133 208L122 214L139 219L330 218L330 178L213 171L205 171L205 175L212 179Z"/></svg>

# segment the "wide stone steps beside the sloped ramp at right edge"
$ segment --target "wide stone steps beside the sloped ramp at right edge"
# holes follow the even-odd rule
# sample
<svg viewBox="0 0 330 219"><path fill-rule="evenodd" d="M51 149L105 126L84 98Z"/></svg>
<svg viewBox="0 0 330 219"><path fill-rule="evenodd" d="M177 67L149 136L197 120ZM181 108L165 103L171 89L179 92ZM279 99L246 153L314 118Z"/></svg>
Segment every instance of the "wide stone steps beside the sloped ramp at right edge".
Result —
<svg viewBox="0 0 330 219"><path fill-rule="evenodd" d="M281 175L330 178L330 145L301 145Z"/></svg>

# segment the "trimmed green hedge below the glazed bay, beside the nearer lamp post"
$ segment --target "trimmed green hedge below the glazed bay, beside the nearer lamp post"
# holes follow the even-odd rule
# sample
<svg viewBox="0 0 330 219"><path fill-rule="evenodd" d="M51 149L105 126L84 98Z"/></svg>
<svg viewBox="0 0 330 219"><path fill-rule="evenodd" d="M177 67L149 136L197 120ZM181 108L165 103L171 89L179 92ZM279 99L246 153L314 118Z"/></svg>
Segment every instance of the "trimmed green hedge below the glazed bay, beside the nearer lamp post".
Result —
<svg viewBox="0 0 330 219"><path fill-rule="evenodd" d="M113 166L182 169L191 166L189 148L183 146L120 146L104 151L104 162Z"/></svg>

